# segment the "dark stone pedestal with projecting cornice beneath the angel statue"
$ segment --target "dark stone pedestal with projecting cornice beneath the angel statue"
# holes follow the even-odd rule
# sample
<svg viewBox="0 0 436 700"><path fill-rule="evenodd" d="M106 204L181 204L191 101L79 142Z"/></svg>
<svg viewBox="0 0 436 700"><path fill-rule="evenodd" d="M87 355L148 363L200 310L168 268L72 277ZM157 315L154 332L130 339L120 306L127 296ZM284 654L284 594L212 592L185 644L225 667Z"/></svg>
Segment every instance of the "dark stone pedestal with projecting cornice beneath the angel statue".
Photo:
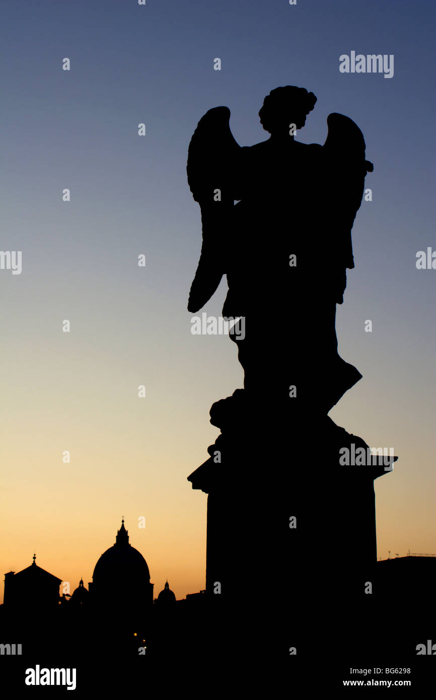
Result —
<svg viewBox="0 0 436 700"><path fill-rule="evenodd" d="M270 638L274 657L295 645L310 654L350 610L365 617L374 479L392 464L342 465L344 448L353 456L367 444L327 416L259 419L244 390L214 404L222 433L188 477L208 494L206 594L243 645L254 634Z"/></svg>

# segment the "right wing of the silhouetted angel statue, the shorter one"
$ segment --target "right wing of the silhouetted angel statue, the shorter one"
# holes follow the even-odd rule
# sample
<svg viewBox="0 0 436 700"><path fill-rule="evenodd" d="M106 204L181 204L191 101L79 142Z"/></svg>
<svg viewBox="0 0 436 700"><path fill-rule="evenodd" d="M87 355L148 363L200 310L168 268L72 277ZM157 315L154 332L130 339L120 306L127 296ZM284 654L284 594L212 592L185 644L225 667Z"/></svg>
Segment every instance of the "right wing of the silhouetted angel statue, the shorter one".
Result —
<svg viewBox="0 0 436 700"><path fill-rule="evenodd" d="M332 113L327 118L328 137L323 152L326 157L329 181L335 192L332 196L332 214L338 225L339 246L345 267L354 267L351 228L362 203L365 176L374 165L365 160L365 139L358 125L343 114Z"/></svg>

